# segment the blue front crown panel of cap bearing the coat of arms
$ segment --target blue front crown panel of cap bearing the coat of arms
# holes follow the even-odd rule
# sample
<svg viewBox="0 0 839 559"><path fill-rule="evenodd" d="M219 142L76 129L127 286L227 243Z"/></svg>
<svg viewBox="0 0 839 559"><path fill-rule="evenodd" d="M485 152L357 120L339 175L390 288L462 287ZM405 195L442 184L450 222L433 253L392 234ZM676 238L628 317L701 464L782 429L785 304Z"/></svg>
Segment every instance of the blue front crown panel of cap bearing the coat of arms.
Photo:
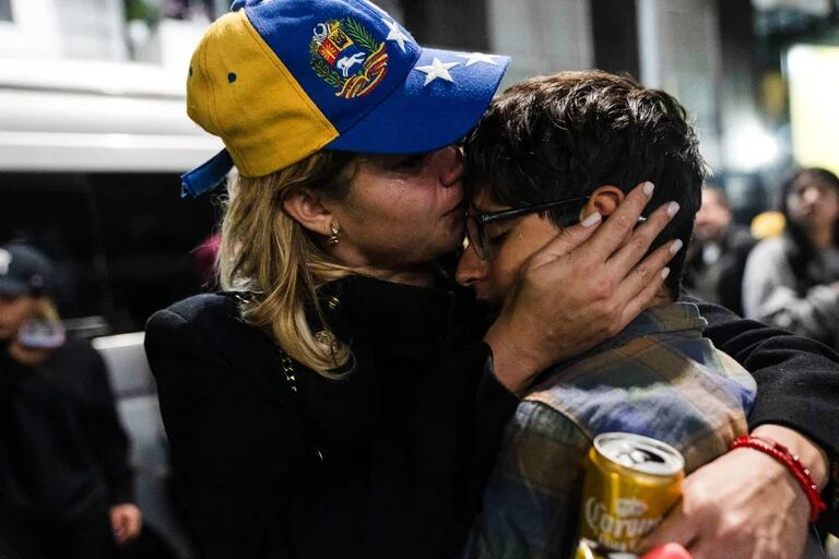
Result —
<svg viewBox="0 0 839 559"><path fill-rule="evenodd" d="M386 99L420 56L399 23L363 0L253 1L245 13L339 133Z"/></svg>

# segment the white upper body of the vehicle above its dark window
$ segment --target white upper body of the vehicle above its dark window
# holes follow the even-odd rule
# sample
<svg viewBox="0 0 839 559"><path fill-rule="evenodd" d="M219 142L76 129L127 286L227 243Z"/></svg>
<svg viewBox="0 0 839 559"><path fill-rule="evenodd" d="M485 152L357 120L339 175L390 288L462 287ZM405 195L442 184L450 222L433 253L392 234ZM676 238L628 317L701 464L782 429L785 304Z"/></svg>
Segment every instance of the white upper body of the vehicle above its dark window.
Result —
<svg viewBox="0 0 839 559"><path fill-rule="evenodd" d="M218 151L185 111L186 71L0 59L0 170L181 173Z"/></svg>

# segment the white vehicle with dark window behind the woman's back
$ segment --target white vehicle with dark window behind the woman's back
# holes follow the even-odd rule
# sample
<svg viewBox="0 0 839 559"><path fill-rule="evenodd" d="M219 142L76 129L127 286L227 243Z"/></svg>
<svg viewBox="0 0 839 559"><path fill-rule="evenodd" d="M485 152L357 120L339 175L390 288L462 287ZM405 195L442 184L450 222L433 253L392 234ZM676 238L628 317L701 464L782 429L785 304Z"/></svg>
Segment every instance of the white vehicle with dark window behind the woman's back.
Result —
<svg viewBox="0 0 839 559"><path fill-rule="evenodd" d="M209 199L179 198L178 175L221 148L187 118L185 84L146 64L0 58L0 242L35 242L74 278L59 306L109 366L145 523L186 558L142 346L153 310L201 289L190 251L215 219Z"/></svg>

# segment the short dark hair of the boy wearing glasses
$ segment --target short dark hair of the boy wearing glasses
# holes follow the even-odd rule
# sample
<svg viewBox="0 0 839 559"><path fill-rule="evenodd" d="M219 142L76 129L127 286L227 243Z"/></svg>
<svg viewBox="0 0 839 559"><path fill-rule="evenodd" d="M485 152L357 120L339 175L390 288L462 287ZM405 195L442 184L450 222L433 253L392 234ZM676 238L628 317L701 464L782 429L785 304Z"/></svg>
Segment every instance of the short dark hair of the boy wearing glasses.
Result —
<svg viewBox="0 0 839 559"><path fill-rule="evenodd" d="M647 213L670 201L682 209L650 250L690 240L706 174L696 133L675 98L631 78L587 71L521 82L492 103L464 147L470 188L488 188L512 207L652 181ZM684 254L670 263L673 296Z"/></svg>

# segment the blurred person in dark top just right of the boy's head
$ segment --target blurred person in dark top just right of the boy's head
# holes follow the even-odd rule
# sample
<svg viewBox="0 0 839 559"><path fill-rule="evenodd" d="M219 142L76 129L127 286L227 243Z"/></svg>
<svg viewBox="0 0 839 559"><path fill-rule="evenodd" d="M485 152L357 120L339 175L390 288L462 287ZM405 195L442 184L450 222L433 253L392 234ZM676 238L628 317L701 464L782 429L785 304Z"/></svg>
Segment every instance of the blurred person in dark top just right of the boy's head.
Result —
<svg viewBox="0 0 839 559"><path fill-rule="evenodd" d="M743 271L756 243L746 227L732 223L725 192L706 185L687 251L685 288L699 299L743 314Z"/></svg>

